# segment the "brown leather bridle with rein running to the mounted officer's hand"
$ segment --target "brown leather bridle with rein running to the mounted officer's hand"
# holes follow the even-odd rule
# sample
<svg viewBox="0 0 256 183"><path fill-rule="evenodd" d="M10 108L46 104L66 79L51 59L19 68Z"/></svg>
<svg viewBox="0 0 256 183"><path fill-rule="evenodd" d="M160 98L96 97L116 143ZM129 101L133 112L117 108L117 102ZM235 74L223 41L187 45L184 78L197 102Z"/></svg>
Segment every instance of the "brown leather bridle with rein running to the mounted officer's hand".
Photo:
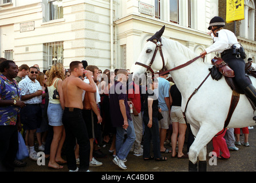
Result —
<svg viewBox="0 0 256 183"><path fill-rule="evenodd" d="M160 52L160 55L161 55L161 57L162 57L162 62L163 62L163 67L162 67L161 70L164 69L165 63L164 63L164 56L163 56L163 51L162 51L162 46L163 46L163 45L162 45L162 43L161 43L161 38L160 38L159 41L157 41L157 42L155 42L155 41L153 41L153 40L152 40L151 42L153 42L153 43L156 44L156 49L155 49L155 52L153 53L153 57L152 57L152 59L151 59L149 65L145 65L144 63L140 63L140 62L135 62L135 65L143 66L143 67L145 67L145 68L147 69L147 70L146 70L146 73L148 73L148 70L149 70L149 71L151 71L152 74L154 74L154 71L153 71L153 69L151 68L151 66L152 66L152 64L153 64L153 61L155 60L156 53L157 53L158 50L159 50L159 52ZM196 60L197 60L198 58L200 58L200 57L202 57L202 55L199 55L198 57L195 57L195 58L191 59L190 61L188 61L188 62L186 62L186 63L184 63L184 64L182 64L182 65L179 65L179 66L177 66L177 67L174 67L173 69L166 70L166 71L160 71L158 74L159 74L159 75L165 75L165 74L167 74L167 73L170 73L170 71L178 70L178 69L181 69L181 68L183 68L183 67L186 67L187 65L190 65L190 63L196 61ZM203 59L204 59L204 57L203 57Z"/></svg>

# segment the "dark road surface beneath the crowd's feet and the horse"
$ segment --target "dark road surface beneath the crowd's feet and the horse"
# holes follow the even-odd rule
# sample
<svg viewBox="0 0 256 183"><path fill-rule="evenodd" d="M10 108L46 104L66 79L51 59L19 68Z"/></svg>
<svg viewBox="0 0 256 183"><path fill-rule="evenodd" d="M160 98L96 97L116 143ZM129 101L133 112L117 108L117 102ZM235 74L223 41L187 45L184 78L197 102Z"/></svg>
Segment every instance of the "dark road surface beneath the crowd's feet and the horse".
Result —
<svg viewBox="0 0 256 183"><path fill-rule="evenodd" d="M241 141L243 141L241 136ZM217 165L210 166L207 162L207 172L256 172L256 126L254 129L249 130L249 144L250 146L237 146L238 151L230 152L229 160L218 160ZM166 145L166 148L170 148L170 145ZM186 153L187 147L184 145L184 153ZM207 145L207 154L212 150L212 143ZM171 154L162 154L166 156L167 161L144 161L142 156L135 156L132 153L128 154L127 170L120 169L117 165L113 164L113 157L108 152L109 145L105 148L101 148L102 152L107 154L106 158L96 158L96 160L103 162L103 166L90 167L91 172L188 172L188 159L171 158ZM64 156L65 159L65 156ZM209 160L210 157L207 157ZM64 165L64 169L50 169L47 164L49 160L46 160L45 165L38 166L36 161L26 158L24 161L27 165L23 168L15 168L15 172L68 172L67 165Z"/></svg>

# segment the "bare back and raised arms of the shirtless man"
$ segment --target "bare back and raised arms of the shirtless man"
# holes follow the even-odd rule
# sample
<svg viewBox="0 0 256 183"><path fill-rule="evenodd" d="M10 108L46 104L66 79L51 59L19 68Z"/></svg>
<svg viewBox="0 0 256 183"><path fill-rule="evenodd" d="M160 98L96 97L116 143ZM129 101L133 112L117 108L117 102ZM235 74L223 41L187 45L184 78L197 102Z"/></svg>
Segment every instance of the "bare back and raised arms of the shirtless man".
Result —
<svg viewBox="0 0 256 183"><path fill-rule="evenodd" d="M82 64L79 65L82 70L84 71ZM81 69L79 68L79 69ZM82 73L83 73L82 71ZM82 109L82 92L83 90L88 91L88 92L96 92L96 85L93 82L92 79L92 72L87 71L86 73L90 83L92 84L87 84L82 79L78 78L78 76L81 75L80 72L72 72L71 75L67 78L64 79L61 85L61 92L62 92L62 97L60 98L62 104L64 104L65 108L78 108ZM64 108L62 105L62 108Z"/></svg>

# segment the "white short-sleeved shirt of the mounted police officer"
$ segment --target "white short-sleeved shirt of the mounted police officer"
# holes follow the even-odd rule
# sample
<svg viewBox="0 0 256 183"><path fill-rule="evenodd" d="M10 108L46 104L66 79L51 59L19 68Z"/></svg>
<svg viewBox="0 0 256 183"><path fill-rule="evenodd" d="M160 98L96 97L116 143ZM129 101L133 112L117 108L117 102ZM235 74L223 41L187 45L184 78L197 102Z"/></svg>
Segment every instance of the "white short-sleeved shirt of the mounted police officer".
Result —
<svg viewBox="0 0 256 183"><path fill-rule="evenodd" d="M213 33L211 33L211 37L213 38L214 43L205 49L207 54L216 51L222 53L223 51L230 49L234 44L237 46L237 49L241 47L237 41L237 37L232 31L221 29L217 33L218 37L214 37Z"/></svg>

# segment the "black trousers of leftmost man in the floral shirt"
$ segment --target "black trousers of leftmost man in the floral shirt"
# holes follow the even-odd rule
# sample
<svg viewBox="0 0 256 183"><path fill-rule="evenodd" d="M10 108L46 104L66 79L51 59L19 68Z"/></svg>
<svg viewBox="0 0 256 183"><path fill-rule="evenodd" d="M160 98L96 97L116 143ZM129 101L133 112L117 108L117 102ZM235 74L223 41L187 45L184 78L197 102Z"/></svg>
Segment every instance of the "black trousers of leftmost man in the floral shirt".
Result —
<svg viewBox="0 0 256 183"><path fill-rule="evenodd" d="M0 126L0 172L13 172L18 151L18 129L15 125Z"/></svg>

